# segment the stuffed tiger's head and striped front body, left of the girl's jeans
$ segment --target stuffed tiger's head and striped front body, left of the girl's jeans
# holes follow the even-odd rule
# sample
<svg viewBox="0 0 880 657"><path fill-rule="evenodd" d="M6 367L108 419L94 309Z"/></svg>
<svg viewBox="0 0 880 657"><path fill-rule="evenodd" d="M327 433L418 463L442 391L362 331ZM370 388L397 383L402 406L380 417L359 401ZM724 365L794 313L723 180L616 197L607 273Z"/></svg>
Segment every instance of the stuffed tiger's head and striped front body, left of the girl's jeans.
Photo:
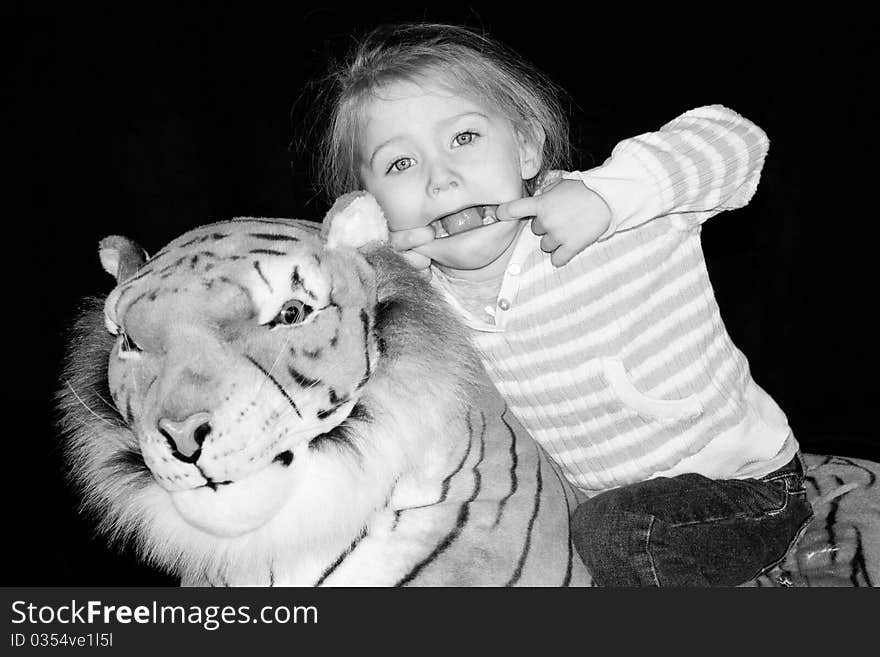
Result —
<svg viewBox="0 0 880 657"><path fill-rule="evenodd" d="M184 585L586 585L577 495L372 197L237 219L87 310L60 394L86 508Z"/></svg>

